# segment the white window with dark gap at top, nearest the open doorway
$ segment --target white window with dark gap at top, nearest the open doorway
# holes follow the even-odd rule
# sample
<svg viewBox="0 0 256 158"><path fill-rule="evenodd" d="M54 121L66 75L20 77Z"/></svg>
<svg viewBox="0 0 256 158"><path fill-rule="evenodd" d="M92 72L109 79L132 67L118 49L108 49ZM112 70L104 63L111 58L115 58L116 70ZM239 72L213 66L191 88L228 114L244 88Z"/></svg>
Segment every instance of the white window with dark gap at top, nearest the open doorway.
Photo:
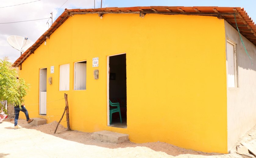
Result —
<svg viewBox="0 0 256 158"><path fill-rule="evenodd" d="M82 63L86 62L86 63ZM85 69L77 69L77 64L85 64ZM77 71L83 71L84 73L77 72ZM84 71L85 70L85 71ZM78 61L74 63L74 90L86 90L86 75L87 74L87 60ZM83 80L85 78L85 80ZM83 83L81 84L81 80L83 80Z"/></svg>

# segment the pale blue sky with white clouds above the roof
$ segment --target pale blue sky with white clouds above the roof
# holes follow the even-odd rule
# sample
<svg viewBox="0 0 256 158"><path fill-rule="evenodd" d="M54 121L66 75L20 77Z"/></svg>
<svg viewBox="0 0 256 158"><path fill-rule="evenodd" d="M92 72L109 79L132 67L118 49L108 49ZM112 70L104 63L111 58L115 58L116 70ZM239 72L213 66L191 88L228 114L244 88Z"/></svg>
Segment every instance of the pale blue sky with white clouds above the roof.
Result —
<svg viewBox="0 0 256 158"><path fill-rule="evenodd" d="M17 22L23 20L43 19L50 17L53 12L55 20L65 8L67 9L91 9L94 8L94 0L1 0L0 23ZM32 3L28 3L32 2ZM24 5L17 5L28 3ZM9 5L17 5L5 7ZM101 0L95 0L95 8L100 8ZM62 6L62 7L61 7ZM102 7L133 7L133 6L219 6L219 7L242 7L256 22L256 0L102 0ZM2 8L5 7L5 8ZM60 8L61 7L61 8ZM59 9L59 10L58 10ZM6 14L8 12L8 14ZM0 24L0 58L5 56L14 62L20 52L13 49L6 41L8 36L28 36L35 42L47 29L48 19ZM51 21L51 20L49 20Z"/></svg>

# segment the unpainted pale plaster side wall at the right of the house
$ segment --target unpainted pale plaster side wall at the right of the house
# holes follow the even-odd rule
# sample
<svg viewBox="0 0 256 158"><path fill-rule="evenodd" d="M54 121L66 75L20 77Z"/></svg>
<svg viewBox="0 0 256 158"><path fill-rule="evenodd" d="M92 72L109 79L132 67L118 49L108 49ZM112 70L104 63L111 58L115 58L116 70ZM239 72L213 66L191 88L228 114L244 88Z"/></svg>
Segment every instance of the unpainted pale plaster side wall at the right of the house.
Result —
<svg viewBox="0 0 256 158"><path fill-rule="evenodd" d="M238 31L226 21L225 31L226 39L229 38L236 43L238 74L238 88L227 88L228 149L230 149L256 124L256 47L242 36L247 52L252 57L252 65L241 43Z"/></svg>

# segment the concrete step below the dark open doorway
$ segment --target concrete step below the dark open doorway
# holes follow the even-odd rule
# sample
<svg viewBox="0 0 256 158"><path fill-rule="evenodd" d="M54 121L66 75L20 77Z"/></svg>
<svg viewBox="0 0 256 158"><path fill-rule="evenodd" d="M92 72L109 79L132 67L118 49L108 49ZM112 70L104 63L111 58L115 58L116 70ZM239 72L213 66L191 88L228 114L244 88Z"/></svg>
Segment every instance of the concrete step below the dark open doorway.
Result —
<svg viewBox="0 0 256 158"><path fill-rule="evenodd" d="M94 139L103 141L103 142L110 142L110 143L122 143L126 140L129 140L128 134L122 134L117 132L110 132L110 131L98 131L93 132L92 137Z"/></svg>

